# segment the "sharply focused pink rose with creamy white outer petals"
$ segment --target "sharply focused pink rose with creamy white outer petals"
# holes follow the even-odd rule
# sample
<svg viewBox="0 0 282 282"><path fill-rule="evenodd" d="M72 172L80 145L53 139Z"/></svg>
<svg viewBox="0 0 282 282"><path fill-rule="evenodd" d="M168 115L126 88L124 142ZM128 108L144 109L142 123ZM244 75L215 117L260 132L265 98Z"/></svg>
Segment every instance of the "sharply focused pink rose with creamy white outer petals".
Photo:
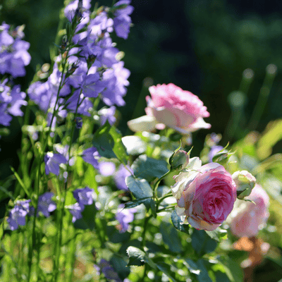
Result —
<svg viewBox="0 0 282 282"><path fill-rule="evenodd" d="M236 185L223 166L190 159L184 172L175 176L171 188L176 197L176 212L183 223L213 231L226 220L236 200Z"/></svg>

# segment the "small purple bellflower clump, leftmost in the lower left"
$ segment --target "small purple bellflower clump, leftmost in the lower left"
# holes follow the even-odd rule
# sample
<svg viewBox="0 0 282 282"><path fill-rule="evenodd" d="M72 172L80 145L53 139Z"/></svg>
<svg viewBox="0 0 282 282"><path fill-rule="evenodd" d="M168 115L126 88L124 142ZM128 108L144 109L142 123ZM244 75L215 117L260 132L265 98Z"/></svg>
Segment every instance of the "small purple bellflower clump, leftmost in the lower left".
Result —
<svg viewBox="0 0 282 282"><path fill-rule="evenodd" d="M30 200L20 200L15 202L15 207L9 212L7 222L10 229L16 230L18 226L25 225L25 216L31 212Z"/></svg>

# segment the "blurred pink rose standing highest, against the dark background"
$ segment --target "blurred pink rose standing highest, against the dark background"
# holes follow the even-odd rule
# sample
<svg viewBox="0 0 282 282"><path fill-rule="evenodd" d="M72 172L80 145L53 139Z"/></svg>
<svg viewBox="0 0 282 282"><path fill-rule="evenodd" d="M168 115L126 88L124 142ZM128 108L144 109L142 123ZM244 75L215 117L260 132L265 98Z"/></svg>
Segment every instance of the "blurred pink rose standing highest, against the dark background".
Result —
<svg viewBox="0 0 282 282"><path fill-rule="evenodd" d="M163 129L165 126L180 133L188 134L200 128L211 128L203 118L209 116L203 102L189 91L169 83L149 87L151 97L147 96L147 116L141 116L129 121L128 126L133 131L148 131L155 127Z"/></svg>

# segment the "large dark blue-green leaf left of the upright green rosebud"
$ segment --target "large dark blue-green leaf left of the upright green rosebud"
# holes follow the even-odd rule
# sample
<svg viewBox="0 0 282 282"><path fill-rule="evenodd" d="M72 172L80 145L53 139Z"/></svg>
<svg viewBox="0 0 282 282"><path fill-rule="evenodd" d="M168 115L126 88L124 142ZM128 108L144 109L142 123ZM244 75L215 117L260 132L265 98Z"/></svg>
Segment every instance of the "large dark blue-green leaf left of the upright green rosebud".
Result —
<svg viewBox="0 0 282 282"><path fill-rule="evenodd" d="M137 157L131 168L133 169L135 176L145 178L148 181L160 178L168 172L166 161L152 159L145 154Z"/></svg>

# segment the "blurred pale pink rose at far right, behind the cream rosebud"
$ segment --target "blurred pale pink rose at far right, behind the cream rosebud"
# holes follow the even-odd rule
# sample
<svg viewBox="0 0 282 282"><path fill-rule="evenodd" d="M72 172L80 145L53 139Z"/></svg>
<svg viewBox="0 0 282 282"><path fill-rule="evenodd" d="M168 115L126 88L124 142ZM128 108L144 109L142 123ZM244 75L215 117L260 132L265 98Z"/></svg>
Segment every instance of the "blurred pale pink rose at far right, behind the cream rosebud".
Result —
<svg viewBox="0 0 282 282"><path fill-rule="evenodd" d="M262 186L256 184L246 202L237 200L231 215L228 216L231 232L237 237L252 237L257 235L269 217L269 196Z"/></svg>

